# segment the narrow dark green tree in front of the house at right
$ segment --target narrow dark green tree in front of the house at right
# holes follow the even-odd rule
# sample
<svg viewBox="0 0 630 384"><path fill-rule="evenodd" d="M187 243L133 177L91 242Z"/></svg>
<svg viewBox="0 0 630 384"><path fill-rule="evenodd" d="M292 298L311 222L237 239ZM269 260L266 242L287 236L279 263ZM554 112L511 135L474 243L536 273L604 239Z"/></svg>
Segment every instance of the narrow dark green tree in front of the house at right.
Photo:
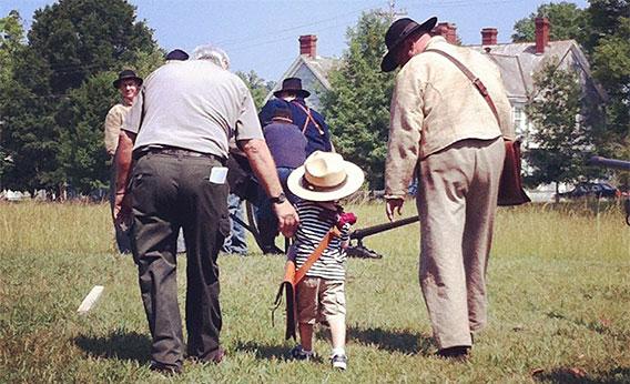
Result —
<svg viewBox="0 0 630 384"><path fill-rule="evenodd" d="M536 127L527 152L532 172L527 182L570 182L585 175L586 151L590 149L589 128L580 118L581 90L578 77L558 68L551 60L536 75L537 95L526 108Z"/></svg>

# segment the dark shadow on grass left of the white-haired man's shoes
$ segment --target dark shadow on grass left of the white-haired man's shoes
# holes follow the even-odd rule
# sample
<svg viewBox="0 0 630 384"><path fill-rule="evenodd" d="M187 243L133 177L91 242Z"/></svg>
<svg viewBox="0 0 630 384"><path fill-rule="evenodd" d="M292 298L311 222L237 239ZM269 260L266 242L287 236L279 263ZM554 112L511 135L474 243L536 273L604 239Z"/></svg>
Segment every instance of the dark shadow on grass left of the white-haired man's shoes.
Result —
<svg viewBox="0 0 630 384"><path fill-rule="evenodd" d="M148 364L151 355L151 338L136 332L112 332L103 337L79 336L74 343L90 356L131 360Z"/></svg>

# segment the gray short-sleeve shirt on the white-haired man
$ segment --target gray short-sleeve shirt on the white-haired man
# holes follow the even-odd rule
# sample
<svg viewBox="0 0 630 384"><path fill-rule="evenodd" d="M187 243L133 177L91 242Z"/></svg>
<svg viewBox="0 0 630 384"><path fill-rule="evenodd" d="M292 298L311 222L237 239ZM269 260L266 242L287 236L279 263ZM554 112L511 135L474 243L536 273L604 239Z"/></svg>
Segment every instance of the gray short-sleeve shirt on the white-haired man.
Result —
<svg viewBox="0 0 630 384"><path fill-rule="evenodd" d="M170 145L227 158L228 142L263 139L250 90L207 60L166 63L144 81L123 127L134 150Z"/></svg>

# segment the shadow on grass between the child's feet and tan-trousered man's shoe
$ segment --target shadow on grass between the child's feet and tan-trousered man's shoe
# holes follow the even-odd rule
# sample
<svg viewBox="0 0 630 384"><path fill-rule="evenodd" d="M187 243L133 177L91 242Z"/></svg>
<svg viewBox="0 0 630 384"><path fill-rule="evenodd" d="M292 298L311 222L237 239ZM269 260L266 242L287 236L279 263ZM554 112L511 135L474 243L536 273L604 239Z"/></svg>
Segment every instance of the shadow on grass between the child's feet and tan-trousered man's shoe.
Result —
<svg viewBox="0 0 630 384"><path fill-rule="evenodd" d="M402 353L430 354L431 337L411 333L409 331L393 331L382 327L360 329L350 326L347 330L348 338L360 344L374 345L379 350Z"/></svg>

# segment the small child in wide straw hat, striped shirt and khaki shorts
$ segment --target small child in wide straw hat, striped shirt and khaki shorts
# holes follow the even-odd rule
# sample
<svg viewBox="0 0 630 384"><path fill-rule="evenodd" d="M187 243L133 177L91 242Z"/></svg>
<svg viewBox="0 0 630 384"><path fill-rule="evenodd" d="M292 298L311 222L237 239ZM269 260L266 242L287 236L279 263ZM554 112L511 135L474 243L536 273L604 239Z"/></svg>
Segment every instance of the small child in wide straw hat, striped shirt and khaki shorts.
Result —
<svg viewBox="0 0 630 384"><path fill-rule="evenodd" d="M357 191L363 181L364 173L357 165L344 161L337 153L319 151L311 154L304 165L288 176L288 190L302 199L296 203L299 226L288 252L295 266L299 269L306 262L334 226L341 232L296 286L302 343L291 351L296 360L313 356L313 326L318 321L331 327L333 367L346 368L345 247L356 216L345 213L338 201Z"/></svg>

